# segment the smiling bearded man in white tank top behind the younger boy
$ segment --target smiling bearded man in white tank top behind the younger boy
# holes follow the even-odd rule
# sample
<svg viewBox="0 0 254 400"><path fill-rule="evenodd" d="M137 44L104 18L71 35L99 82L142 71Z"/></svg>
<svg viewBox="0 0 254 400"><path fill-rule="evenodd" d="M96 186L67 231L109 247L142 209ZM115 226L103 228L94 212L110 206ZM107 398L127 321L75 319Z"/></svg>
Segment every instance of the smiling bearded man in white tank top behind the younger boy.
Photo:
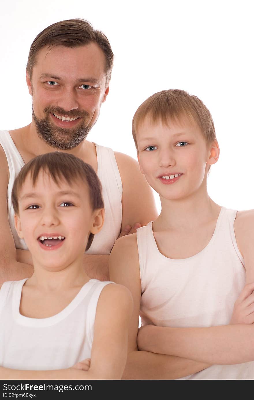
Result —
<svg viewBox="0 0 254 400"><path fill-rule="evenodd" d="M102 182L105 222L84 254L91 278L108 279L108 256L116 239L156 218L152 192L138 163L85 140L108 95L112 66L108 39L81 19L57 22L32 43L26 67L32 122L0 132L0 282L33 272L31 255L14 228L10 194L22 166L39 154L54 150L74 154L90 164ZM45 232L53 232L57 224L57 215L48 218Z"/></svg>

